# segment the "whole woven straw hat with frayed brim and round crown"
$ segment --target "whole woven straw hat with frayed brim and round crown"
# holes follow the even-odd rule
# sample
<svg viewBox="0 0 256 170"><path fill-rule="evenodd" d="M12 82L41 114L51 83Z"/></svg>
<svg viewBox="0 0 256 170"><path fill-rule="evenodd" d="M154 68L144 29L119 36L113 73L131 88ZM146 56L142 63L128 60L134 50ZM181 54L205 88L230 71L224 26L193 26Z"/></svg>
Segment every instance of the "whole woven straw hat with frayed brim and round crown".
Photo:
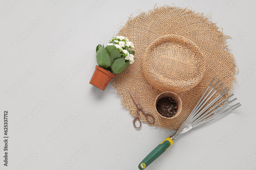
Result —
<svg viewBox="0 0 256 170"><path fill-rule="evenodd" d="M155 117L153 126L176 130L214 76L223 89L231 89L236 80L236 63L226 45L229 36L203 14L157 7L129 18L118 35L134 43L135 62L116 74L112 87L132 116L137 112L129 91L136 88L144 111ZM165 119L155 110L155 99L164 91L175 92L182 100L182 111L174 119ZM140 119L146 122L143 114Z"/></svg>

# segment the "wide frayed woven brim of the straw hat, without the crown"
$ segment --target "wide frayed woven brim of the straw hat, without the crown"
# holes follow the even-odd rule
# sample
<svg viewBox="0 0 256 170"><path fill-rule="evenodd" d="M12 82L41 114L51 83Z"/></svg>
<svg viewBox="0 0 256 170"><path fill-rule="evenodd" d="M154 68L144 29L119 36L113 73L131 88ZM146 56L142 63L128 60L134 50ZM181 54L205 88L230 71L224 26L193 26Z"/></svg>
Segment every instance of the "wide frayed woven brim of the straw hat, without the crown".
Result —
<svg viewBox="0 0 256 170"><path fill-rule="evenodd" d="M165 119L157 114L154 102L163 91L152 87L142 73L142 58L145 50L152 42L167 34L181 35L194 42L204 55L206 63L205 74L201 81L194 88L177 93L183 106L182 112L174 119ZM179 7L157 7L148 12L142 12L135 18L129 18L118 35L125 36L134 43L135 62L124 72L116 74L111 82L112 87L116 89L122 105L132 116L137 112L129 91L135 94L137 89L142 108L155 117L153 126L176 130L193 110L213 77L216 77L215 82L220 80L223 83L219 91L225 87L231 89L236 80L234 76L236 63L226 45L226 39L229 36L220 32L216 24L209 21L203 14ZM225 96L220 100L223 99ZM140 113L140 119L146 122L142 113Z"/></svg>

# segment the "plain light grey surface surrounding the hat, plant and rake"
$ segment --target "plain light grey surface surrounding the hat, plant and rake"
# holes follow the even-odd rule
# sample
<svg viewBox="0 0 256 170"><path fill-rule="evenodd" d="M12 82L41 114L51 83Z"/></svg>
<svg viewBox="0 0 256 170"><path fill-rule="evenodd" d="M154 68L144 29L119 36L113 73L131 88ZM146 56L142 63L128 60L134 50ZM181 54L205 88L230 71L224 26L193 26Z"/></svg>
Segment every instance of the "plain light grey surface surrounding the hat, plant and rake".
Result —
<svg viewBox="0 0 256 170"><path fill-rule="evenodd" d="M255 1L101 2L99 5L98 0L62 0L59 3L54 0L20 0L6 11L3 8L11 2L0 2L2 139L5 110L8 110L9 122L9 162L5 167L0 160L0 169L59 170L65 169L63 166L72 159L75 162L68 169L137 169L138 163L152 149L174 133L167 129L150 128L145 123L140 130L136 130L132 125L133 117L120 106L119 96L110 86L103 92L89 84L97 64L95 47L118 33L118 28L125 24L132 13L133 16L138 15L140 10L137 9L147 11L153 9L156 3L157 6L174 6L175 3L176 6L191 7L205 16L211 13L212 21L217 22L220 30L223 28L224 34L233 37L228 39L228 44L238 64L239 73L236 76L240 82L240 86L235 85L233 92L242 107L180 137L168 149L171 154L159 158L158 165L155 161L155 167L152 164L147 169L255 169L253 122L256 118L256 73L252 68L256 63ZM88 11L95 3L99 6L89 15ZM230 8L227 8L228 5ZM34 24L37 17L42 20L31 30L29 25ZM61 37L70 28L75 30L63 41ZM26 30L29 34L15 46L14 41ZM61 45L47 56L46 52L58 41L61 41ZM80 65L81 60L86 64L75 74L73 69ZM29 69L33 70L30 75L27 74ZM58 85L69 74L72 77L59 89ZM22 76L27 76L26 80L23 81ZM20 83L17 89L6 97L5 93L16 87L17 83ZM41 108L40 102L45 103ZM40 110L33 115L31 110L36 108ZM72 112L78 115L67 125L64 121L72 116ZM27 118L29 115L31 119ZM113 123L114 118L116 121ZM241 123L244 118L248 120ZM17 130L17 126L26 119L29 121ZM102 133L101 129L110 122L113 124ZM237 124L240 128L235 128ZM64 129L50 141L49 136L61 126ZM234 133L228 137L232 130ZM220 146L219 142L225 137L228 140ZM3 159L3 142L0 144ZM84 146L89 148L83 152ZM76 154L80 151L83 154L78 158ZM36 157L26 164L25 160L30 161L34 153ZM248 159L250 156L251 161Z"/></svg>

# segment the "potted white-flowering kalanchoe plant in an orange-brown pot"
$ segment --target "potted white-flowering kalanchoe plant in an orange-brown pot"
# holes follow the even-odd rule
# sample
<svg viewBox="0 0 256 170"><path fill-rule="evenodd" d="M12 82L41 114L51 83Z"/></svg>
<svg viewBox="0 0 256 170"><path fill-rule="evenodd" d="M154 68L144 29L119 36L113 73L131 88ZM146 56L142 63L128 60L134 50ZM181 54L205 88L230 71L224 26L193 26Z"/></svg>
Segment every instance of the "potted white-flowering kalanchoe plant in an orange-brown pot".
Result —
<svg viewBox="0 0 256 170"><path fill-rule="evenodd" d="M115 76L123 72L134 62L134 44L124 36L114 36L109 44L96 47L96 60L99 66L90 80L90 84L103 90Z"/></svg>

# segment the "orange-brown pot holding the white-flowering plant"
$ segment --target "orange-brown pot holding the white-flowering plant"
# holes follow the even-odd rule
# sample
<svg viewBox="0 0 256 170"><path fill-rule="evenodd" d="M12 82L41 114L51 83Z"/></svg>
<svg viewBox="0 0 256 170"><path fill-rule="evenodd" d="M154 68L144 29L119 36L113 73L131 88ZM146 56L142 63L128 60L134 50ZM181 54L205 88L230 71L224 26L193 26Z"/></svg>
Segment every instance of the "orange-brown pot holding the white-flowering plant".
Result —
<svg viewBox="0 0 256 170"><path fill-rule="evenodd" d="M109 71L99 66L96 66L95 71L90 80L90 84L104 91L114 76L115 75L110 73Z"/></svg>

